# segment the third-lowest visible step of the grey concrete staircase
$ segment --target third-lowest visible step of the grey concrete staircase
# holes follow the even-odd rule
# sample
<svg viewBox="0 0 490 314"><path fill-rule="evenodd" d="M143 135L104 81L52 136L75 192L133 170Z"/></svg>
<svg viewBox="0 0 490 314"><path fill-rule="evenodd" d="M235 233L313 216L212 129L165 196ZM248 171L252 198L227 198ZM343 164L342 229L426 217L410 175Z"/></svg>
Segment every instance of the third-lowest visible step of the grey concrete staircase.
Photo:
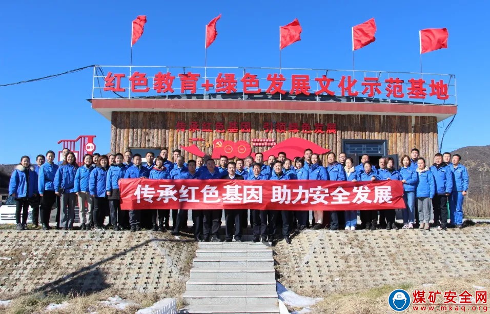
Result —
<svg viewBox="0 0 490 314"><path fill-rule="evenodd" d="M189 279L186 291L274 291L276 280L269 278Z"/></svg>

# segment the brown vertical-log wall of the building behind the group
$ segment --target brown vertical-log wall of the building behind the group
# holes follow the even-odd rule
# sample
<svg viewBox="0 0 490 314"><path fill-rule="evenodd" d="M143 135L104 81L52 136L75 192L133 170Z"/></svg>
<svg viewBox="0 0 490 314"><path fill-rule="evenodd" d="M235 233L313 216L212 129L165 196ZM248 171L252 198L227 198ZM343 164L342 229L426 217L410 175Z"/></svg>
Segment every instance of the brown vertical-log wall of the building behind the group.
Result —
<svg viewBox="0 0 490 314"><path fill-rule="evenodd" d="M178 131L177 122L190 121L210 122L213 131L202 132ZM215 122L223 122L225 127L229 122L250 122L250 133L219 133L216 132ZM264 132L264 122L309 123L314 129L315 123L336 123L337 133L303 134L279 133L275 130ZM412 123L414 122L414 123ZM218 113L218 112L113 112L111 126L111 152L124 152L130 148L161 148L170 150L180 146L196 144L201 151L211 153L214 139L229 141L247 141L252 139L274 139L276 143L290 137L301 137L332 149L337 154L342 151L342 140L387 140L389 154L409 154L417 147L420 155L428 163L438 152L437 119L433 116L396 116L396 115L365 115L365 114L312 114L312 113ZM202 138L205 141L192 142L192 138ZM270 149L268 146L252 146L253 152ZM196 156L182 151L186 160Z"/></svg>

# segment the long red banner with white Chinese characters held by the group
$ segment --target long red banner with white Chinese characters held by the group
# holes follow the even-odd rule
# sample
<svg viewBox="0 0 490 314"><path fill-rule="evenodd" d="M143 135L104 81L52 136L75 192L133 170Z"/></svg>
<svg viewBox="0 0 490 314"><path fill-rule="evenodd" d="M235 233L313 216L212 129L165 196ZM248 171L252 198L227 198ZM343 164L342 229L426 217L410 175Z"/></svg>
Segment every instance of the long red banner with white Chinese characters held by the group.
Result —
<svg viewBox="0 0 490 314"><path fill-rule="evenodd" d="M126 210L405 208L400 181L123 179L119 188Z"/></svg>

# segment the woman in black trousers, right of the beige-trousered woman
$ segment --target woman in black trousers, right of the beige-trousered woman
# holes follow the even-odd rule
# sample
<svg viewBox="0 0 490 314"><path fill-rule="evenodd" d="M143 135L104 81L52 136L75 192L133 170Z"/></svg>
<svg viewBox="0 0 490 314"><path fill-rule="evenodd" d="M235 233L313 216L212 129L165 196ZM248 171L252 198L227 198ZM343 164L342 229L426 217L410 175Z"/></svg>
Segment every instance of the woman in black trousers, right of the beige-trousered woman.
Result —
<svg viewBox="0 0 490 314"><path fill-rule="evenodd" d="M97 166L90 173L89 190L90 195L94 198L94 229L105 230L104 218L105 212L109 207L106 194L106 174L109 158L107 155L101 155L97 161Z"/></svg>

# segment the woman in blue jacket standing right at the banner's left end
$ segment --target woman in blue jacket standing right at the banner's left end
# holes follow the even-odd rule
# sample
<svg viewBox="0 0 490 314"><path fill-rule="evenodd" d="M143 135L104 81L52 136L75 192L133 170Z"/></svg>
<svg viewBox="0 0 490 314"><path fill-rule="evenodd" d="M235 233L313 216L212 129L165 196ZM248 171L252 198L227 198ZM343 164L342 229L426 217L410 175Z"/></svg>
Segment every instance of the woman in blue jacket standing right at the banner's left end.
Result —
<svg viewBox="0 0 490 314"><path fill-rule="evenodd" d="M119 231L129 228L129 215L126 210L121 210L119 201L119 180L124 176L126 166L123 164L124 156L121 153L114 155L114 162L110 165L106 174L106 194L109 203L109 214L112 230ZM109 163L111 161L109 160Z"/></svg>

